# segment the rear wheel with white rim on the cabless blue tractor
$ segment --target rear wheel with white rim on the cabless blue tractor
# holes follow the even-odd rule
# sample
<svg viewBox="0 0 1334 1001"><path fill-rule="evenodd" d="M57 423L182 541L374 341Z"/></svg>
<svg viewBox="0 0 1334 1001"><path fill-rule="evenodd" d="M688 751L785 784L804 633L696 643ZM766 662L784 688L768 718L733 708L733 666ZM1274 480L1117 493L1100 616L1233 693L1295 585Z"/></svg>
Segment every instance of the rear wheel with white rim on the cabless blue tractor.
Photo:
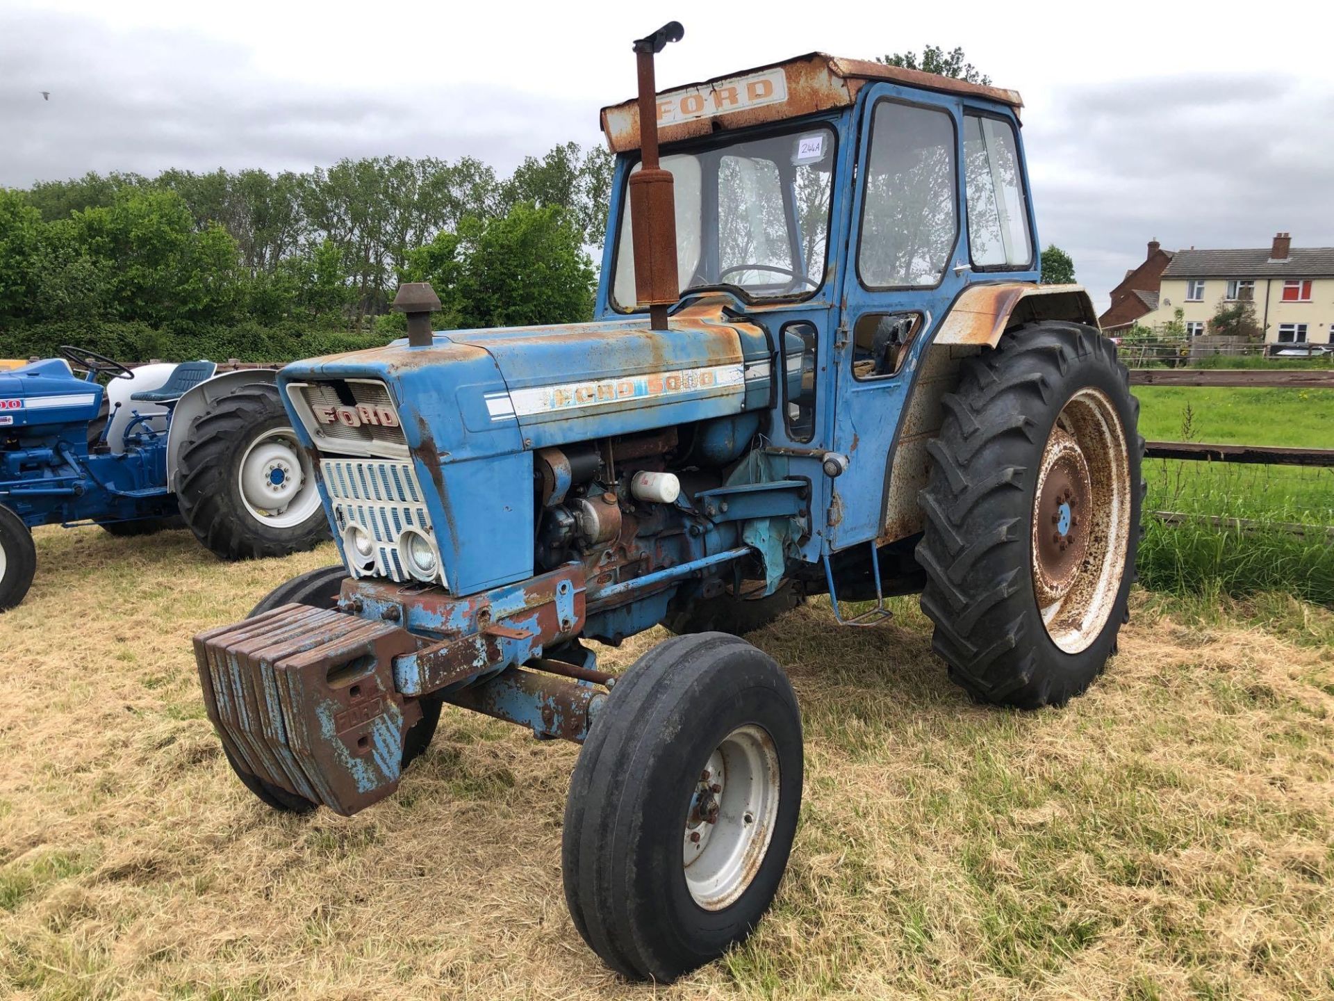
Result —
<svg viewBox="0 0 1334 1001"><path fill-rule="evenodd" d="M269 383L241 386L195 418L177 484L181 518L221 559L285 557L329 538L311 458Z"/></svg>

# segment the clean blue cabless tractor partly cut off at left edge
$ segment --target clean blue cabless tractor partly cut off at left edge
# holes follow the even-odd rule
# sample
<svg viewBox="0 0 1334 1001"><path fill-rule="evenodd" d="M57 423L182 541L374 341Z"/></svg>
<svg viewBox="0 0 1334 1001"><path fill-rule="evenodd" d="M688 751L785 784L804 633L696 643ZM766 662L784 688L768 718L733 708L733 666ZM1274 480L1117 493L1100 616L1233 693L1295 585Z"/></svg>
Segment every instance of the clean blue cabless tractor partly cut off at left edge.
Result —
<svg viewBox="0 0 1334 1001"><path fill-rule="evenodd" d="M184 523L223 559L328 538L275 372L216 370L129 370L63 347L61 358L0 371L0 611L28 593L39 525L144 535Z"/></svg>

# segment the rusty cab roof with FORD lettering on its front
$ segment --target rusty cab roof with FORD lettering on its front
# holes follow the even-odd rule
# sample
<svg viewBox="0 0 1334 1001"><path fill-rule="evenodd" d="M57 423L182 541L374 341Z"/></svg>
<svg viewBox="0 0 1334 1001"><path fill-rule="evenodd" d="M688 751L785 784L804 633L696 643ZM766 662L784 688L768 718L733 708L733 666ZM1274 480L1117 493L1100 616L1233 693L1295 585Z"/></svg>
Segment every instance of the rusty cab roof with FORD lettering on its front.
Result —
<svg viewBox="0 0 1334 1001"><path fill-rule="evenodd" d="M811 52L740 73L674 87L658 93L658 139L672 143L691 136L768 121L795 119L830 108L848 107L867 83L888 80L943 93L1023 107L1017 91L903 69L862 59L839 59ZM602 131L615 153L639 148L639 104L634 99L602 109Z"/></svg>

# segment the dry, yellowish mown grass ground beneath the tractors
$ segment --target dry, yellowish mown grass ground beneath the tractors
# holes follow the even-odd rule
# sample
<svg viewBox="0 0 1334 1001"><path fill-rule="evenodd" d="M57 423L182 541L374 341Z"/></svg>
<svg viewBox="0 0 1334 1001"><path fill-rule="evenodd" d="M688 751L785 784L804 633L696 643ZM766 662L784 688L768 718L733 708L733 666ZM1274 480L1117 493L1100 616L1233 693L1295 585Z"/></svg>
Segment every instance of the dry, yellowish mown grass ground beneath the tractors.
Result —
<svg viewBox="0 0 1334 1001"><path fill-rule="evenodd" d="M915 602L752 639L802 701L802 823L758 934L671 989L566 914L578 749L446 709L399 794L269 813L189 635L332 559L43 530L0 618L0 996L1309 998L1334 993L1334 614L1137 593L1065 710L971 705ZM658 637L608 651L623 667Z"/></svg>

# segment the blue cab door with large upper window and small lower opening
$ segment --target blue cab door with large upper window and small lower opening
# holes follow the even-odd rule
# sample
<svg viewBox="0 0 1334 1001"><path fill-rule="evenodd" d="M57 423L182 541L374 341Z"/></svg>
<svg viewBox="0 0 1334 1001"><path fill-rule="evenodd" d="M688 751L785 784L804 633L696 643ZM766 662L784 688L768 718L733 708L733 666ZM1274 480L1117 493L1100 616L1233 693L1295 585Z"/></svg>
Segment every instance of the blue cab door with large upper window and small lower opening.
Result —
<svg viewBox="0 0 1334 1001"><path fill-rule="evenodd" d="M882 530L888 462L920 354L968 280L956 99L876 84L860 95L858 187L834 338L831 549Z"/></svg>

